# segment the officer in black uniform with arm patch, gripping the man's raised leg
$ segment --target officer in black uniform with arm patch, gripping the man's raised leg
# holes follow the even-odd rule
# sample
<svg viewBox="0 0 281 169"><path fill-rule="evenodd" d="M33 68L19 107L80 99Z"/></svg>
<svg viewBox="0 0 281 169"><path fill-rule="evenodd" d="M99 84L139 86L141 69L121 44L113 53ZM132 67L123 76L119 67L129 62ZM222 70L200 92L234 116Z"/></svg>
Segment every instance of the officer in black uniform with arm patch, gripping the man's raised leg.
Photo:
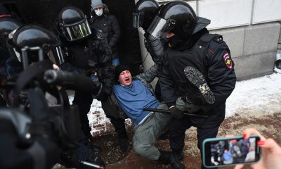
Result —
<svg viewBox="0 0 281 169"><path fill-rule="evenodd" d="M171 1L160 9L148 30L155 37L166 34L169 41L160 84L174 117L169 125L171 149L180 159L186 129L197 127L200 150L204 139L216 137L225 118L226 99L235 88L230 50L221 35L209 34L209 23L184 1Z"/></svg>

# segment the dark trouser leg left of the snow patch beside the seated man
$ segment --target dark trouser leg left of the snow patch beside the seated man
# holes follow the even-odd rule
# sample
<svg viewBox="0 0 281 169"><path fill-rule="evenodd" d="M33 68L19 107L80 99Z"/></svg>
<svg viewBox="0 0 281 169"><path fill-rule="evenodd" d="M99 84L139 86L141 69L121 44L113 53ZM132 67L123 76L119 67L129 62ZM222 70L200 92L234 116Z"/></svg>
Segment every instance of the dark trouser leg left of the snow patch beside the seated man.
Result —
<svg viewBox="0 0 281 169"><path fill-rule="evenodd" d="M89 126L89 119L87 114L90 111L91 104L93 102L93 97L90 93L76 91L74 94L73 104L76 104L79 108L81 130L84 132L85 136L93 140L91 136L91 127Z"/></svg>

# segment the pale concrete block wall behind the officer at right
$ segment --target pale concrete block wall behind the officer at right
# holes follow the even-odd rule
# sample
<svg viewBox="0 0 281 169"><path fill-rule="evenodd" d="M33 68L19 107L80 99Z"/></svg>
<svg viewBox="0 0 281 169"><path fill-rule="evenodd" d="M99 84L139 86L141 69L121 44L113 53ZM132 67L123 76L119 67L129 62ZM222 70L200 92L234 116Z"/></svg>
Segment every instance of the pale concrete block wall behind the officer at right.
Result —
<svg viewBox="0 0 281 169"><path fill-rule="evenodd" d="M165 4L166 0L158 0ZM280 41L281 0L197 0L187 1L197 15L208 18L207 28L223 35L230 47L238 80L273 73ZM142 32L140 29L140 37ZM143 39L141 39L143 45ZM146 57L145 69L152 65Z"/></svg>

